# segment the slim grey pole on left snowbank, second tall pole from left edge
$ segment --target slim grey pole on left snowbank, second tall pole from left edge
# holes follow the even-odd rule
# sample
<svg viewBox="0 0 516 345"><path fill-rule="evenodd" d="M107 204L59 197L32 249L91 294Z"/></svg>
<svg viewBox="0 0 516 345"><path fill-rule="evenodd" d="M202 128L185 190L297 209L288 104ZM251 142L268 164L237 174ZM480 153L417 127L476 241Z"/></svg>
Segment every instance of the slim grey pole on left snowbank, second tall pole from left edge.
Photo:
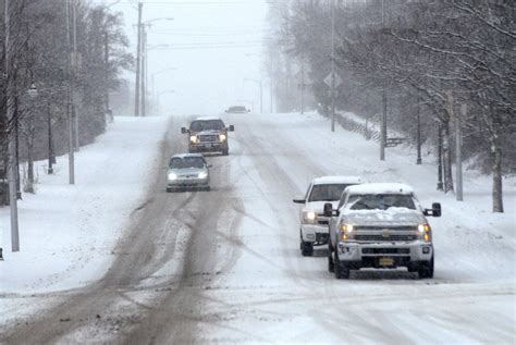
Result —
<svg viewBox="0 0 516 345"><path fill-rule="evenodd" d="M66 0L66 47L69 50L69 75L72 74L72 65L73 65L73 53L72 53L72 39L70 33L70 24L71 24L71 9L70 9L70 1ZM74 136L73 136L73 108L72 108L72 98L74 94L74 83L69 78L69 88L66 95L66 113L67 113L67 130L69 130L69 183L71 185L75 184L75 162L74 162Z"/></svg>

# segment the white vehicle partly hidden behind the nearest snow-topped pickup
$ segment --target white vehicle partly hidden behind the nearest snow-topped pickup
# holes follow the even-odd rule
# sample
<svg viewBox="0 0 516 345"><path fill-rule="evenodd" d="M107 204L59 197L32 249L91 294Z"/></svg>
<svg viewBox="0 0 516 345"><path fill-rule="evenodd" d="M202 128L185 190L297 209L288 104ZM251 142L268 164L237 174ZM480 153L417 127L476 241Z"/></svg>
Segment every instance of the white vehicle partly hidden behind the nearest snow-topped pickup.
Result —
<svg viewBox="0 0 516 345"><path fill-rule="evenodd" d="M294 199L303 204L299 212L299 247L303 256L312 256L314 246L328 244L328 217L323 214L325 202L336 204L348 186L360 183L357 176L323 176L314 178L303 199Z"/></svg>

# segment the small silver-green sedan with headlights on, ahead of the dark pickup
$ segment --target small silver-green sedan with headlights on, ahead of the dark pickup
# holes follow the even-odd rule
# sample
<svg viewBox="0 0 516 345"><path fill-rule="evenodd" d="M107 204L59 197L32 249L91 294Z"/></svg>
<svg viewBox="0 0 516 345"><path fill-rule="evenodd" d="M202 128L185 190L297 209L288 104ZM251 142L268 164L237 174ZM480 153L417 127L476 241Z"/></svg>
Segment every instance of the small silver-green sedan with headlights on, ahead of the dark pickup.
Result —
<svg viewBox="0 0 516 345"><path fill-rule="evenodd" d="M179 189L210 190L209 165L202 155L183 153L170 159L167 172L167 192Z"/></svg>

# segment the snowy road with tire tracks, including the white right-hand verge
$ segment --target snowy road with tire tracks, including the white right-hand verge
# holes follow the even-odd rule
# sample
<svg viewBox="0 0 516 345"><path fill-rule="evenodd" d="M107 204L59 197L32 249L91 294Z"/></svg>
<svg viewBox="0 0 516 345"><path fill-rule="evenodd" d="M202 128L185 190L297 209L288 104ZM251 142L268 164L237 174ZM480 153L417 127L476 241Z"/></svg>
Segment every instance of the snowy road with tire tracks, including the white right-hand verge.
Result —
<svg viewBox="0 0 516 345"><path fill-rule="evenodd" d="M402 149L380 163L374 144L332 135L319 116L239 114L226 116L235 125L230 156L208 157L212 192L167 194L163 165L185 150L185 123L172 122L163 163L149 176L156 183L107 275L50 293L54 307L10 328L3 342L516 341L514 215L489 212L486 180L466 178L465 198L479 199L457 205L434 190L433 165L415 167ZM435 279L401 270L336 281L324 249L302 257L292 199L325 174L406 182L423 205L441 201L443 218L430 220Z"/></svg>

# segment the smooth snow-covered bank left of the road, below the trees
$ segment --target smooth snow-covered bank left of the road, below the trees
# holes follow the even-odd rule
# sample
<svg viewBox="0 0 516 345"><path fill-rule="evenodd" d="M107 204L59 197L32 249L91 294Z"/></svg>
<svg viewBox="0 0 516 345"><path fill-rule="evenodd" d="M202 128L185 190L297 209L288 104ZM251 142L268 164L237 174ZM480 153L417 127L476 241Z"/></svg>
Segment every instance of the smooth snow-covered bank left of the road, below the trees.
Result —
<svg viewBox="0 0 516 345"><path fill-rule="evenodd" d="M69 184L67 156L58 158L52 175L46 161L37 162L36 194L19 202L19 252L11 251L9 207L0 209L0 298L75 288L105 274L132 210L153 182L167 122L116 118L75 153L75 185Z"/></svg>

